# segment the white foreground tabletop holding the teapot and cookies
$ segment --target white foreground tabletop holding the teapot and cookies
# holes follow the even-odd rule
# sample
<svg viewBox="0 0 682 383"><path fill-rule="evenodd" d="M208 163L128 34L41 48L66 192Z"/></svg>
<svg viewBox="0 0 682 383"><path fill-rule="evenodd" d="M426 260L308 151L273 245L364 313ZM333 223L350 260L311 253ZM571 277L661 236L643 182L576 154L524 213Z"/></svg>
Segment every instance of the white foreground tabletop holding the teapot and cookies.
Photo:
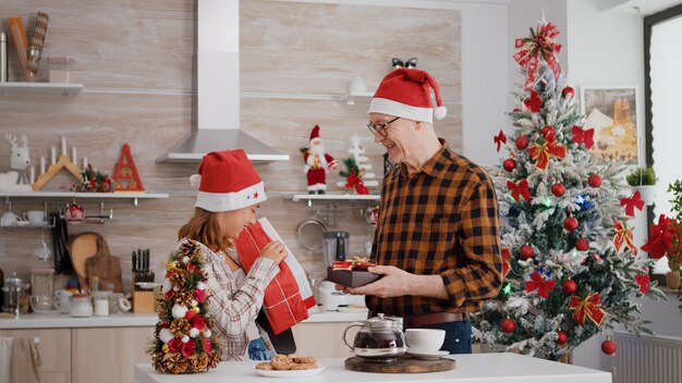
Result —
<svg viewBox="0 0 682 383"><path fill-rule="evenodd" d="M282 379L264 378L254 372L256 362L226 361L218 368L197 374L158 374L150 363L136 365L134 375L139 383L258 383L258 382L309 382L309 383L374 383L414 382L414 383L443 383L443 382L476 382L476 383L508 383L508 382L543 382L543 383L611 383L611 374L605 371L586 369L527 357L517 354L472 354L453 355L456 368L451 371L429 373L368 373L349 371L344 368L344 359L320 359L319 365L327 368L319 374L308 378Z"/></svg>

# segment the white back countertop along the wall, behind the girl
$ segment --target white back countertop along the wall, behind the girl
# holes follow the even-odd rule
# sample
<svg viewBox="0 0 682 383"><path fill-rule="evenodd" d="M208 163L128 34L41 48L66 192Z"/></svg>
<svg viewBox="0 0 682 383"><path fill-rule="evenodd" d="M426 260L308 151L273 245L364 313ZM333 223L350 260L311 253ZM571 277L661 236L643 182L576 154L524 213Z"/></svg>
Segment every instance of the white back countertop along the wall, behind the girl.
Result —
<svg viewBox="0 0 682 383"><path fill-rule="evenodd" d="M367 319L366 310L352 312L326 311L316 313L304 323L354 322ZM86 328L137 328L153 326L156 313L118 313L109 317L72 318L66 313L29 313L20 319L0 319L0 330L22 329L86 329Z"/></svg>

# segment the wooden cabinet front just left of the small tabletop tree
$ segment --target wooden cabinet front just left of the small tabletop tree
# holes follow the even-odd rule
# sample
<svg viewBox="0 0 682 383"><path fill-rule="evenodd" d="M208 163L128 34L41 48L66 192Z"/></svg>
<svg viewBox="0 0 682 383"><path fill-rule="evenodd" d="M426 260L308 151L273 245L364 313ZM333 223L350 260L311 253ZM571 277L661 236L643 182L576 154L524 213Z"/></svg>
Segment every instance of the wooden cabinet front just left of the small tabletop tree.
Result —
<svg viewBox="0 0 682 383"><path fill-rule="evenodd" d="M72 382L134 383L133 366L151 362L153 336L154 328L72 329Z"/></svg>

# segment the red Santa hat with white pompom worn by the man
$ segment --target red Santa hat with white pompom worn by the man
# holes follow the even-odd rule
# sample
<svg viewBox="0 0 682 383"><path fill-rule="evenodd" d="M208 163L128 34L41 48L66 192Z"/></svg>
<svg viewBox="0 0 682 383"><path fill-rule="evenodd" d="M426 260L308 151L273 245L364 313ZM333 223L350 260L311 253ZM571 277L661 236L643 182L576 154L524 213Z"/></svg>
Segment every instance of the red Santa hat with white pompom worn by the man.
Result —
<svg viewBox="0 0 682 383"><path fill-rule="evenodd" d="M434 110L430 89L434 89ZM441 120L448 110L442 106L438 83L426 71L415 67L398 69L386 75L372 98L367 113L382 113L431 123Z"/></svg>

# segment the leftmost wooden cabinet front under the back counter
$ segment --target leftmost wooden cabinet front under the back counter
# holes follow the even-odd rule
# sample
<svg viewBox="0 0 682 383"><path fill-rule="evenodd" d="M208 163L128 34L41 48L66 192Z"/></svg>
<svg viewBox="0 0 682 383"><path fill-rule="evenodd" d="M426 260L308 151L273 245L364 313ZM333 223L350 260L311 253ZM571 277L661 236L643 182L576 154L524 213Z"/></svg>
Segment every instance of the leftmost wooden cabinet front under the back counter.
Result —
<svg viewBox="0 0 682 383"><path fill-rule="evenodd" d="M0 330L0 336L38 339L40 381L71 382L71 329Z"/></svg>

